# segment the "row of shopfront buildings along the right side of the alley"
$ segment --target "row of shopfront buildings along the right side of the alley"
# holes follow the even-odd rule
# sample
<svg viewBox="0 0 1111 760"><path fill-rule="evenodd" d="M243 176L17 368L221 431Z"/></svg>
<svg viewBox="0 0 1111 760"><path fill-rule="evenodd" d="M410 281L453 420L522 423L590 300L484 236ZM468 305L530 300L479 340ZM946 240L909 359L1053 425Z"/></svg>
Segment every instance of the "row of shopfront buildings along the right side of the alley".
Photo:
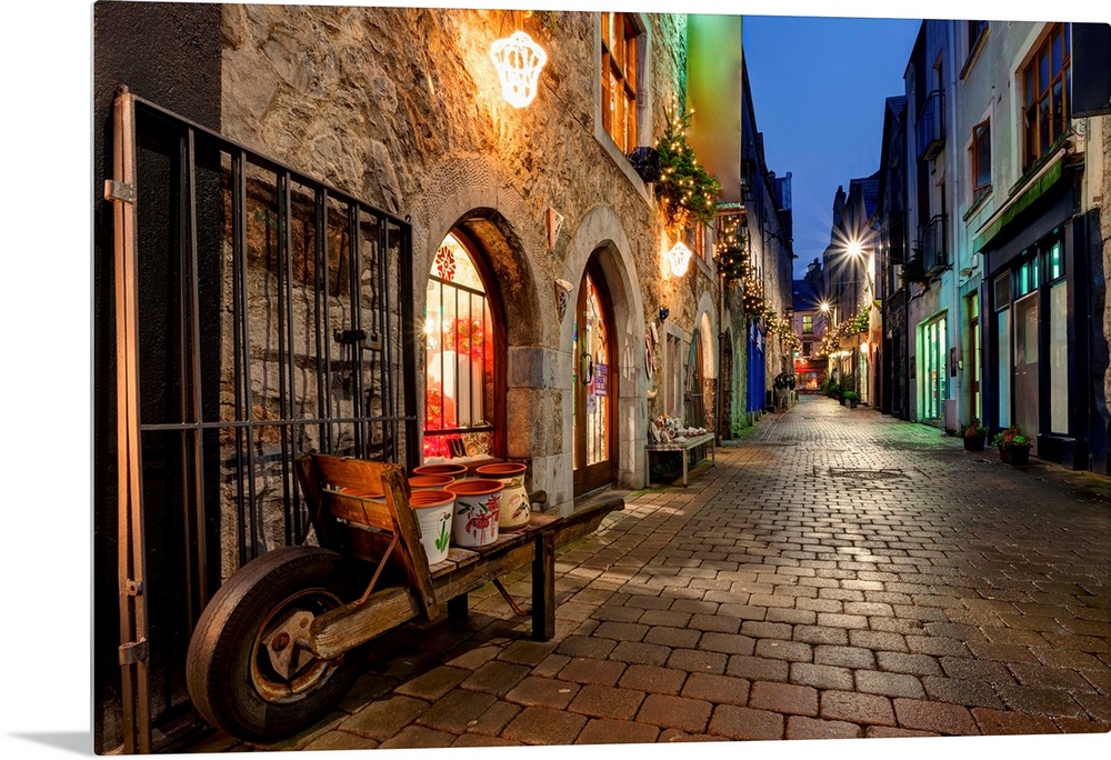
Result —
<svg viewBox="0 0 1111 760"><path fill-rule="evenodd" d="M1041 459L1111 472L1107 38L922 22L879 170L838 189L822 260L827 368L862 400L943 429L1019 424Z"/></svg>

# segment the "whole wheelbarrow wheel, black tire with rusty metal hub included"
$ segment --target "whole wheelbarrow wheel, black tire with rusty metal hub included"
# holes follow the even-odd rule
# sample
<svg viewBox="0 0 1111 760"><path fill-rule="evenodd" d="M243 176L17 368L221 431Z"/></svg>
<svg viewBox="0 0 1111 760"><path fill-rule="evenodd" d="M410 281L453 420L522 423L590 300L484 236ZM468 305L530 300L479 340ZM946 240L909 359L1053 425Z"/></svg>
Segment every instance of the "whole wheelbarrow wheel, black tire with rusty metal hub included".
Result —
<svg viewBox="0 0 1111 760"><path fill-rule="evenodd" d="M298 638L314 616L346 601L339 561L318 547L276 549L212 597L186 662L189 696L212 726L268 742L311 726L347 693L356 669L342 656L314 657Z"/></svg>

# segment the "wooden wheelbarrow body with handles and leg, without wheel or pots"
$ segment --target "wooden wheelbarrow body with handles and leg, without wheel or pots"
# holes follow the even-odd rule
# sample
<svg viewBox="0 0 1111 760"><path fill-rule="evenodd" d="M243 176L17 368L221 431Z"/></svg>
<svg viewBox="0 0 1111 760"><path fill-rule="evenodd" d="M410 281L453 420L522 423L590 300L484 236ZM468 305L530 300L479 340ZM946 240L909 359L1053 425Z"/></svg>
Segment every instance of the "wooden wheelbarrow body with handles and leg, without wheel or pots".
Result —
<svg viewBox="0 0 1111 760"><path fill-rule="evenodd" d="M484 583L494 582L509 599L497 579L527 564L532 569L532 638L551 639L556 550L624 508L615 498L568 517L534 512L524 528L501 532L489 546L451 547L444 561L429 566L401 467L326 454L302 457L297 464L320 546L363 563L360 574L370 577L360 599L313 619L308 638L323 659L408 621L431 620L444 609L450 617L466 616L467 594Z"/></svg>

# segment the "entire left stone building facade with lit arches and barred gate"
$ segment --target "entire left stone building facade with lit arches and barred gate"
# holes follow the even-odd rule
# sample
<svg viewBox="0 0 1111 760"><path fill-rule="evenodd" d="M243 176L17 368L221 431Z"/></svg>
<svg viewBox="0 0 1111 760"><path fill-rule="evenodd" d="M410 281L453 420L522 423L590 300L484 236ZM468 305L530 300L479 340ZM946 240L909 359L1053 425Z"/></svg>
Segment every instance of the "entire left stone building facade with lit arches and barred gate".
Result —
<svg viewBox="0 0 1111 760"><path fill-rule="evenodd" d="M739 19L722 23L735 23L739 40ZM490 378L467 399L481 397L484 407L467 436L453 437L466 443L461 452L527 462L529 488L546 491L548 509L561 512L598 488L643 487L658 416L688 416L695 398L714 409L707 397L717 392L727 326L713 226L670 227L650 174L630 159L659 139L669 109L685 111L702 76L688 58L685 16L100 3L94 27L98 178L113 176L120 153L119 86L180 117L174 123L188 134L179 143L140 126L138 136L140 252L169 251L158 264L140 263L139 287L171 283L157 303L139 299L141 309L153 303L140 316L140 342L154 344L138 349L141 421L154 412L170 420L191 404L203 418L173 417L171 434L158 426L143 433L143 509L157 527L144 534L128 534L116 490L123 431L113 294L122 286L112 269L111 202L99 189L96 207L94 603L120 609L119 557L174 558L151 568L159 576L151 594L161 594L148 600L153 723L188 708L180 644L207 594L250 556L302 538L291 526L303 520L292 457L392 452L411 468L441 453L429 442L443 436L424 431L434 427L433 382L437 409L446 406L443 368L457 383L464 368ZM491 61L491 43L517 30L547 57L523 108L503 98ZM739 91L718 94L740 111ZM198 141L219 136L231 146L202 150L196 177L186 171L193 164L176 163L191 156L194 131ZM241 180L240 152L264 157ZM152 202L143 194L151 178L182 196ZM194 213L196 229L180 226L182 213ZM237 231L237 214L244 230ZM678 273L668 254L681 241L692 256ZM321 248L330 253L314 259ZM462 270L473 279L453 280ZM439 311L429 307L449 286L456 298L478 298L486 316L453 312L452 330L468 323L469 350L459 350L463 333L454 333L453 350L436 354L441 374L433 377L429 357L447 321L442 301ZM407 334L407 319L417 334ZM190 361L196 377L174 376ZM396 388L416 419L390 412ZM458 388L452 398L464 402ZM364 433L360 419L298 422L320 409L340 420L393 413L398 429ZM189 448L202 443L203 456ZM258 460L246 483L233 474L243 456ZM189 468L193 479L176 491L173 478ZM136 706L120 703L119 621L100 616L94 639L96 743L109 750L130 730L121 713Z"/></svg>

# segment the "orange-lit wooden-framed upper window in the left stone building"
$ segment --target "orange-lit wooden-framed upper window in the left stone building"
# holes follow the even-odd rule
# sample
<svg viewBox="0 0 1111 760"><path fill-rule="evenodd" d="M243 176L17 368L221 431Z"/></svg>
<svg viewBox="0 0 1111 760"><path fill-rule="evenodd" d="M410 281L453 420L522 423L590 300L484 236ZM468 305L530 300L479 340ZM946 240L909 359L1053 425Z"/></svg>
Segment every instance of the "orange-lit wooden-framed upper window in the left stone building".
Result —
<svg viewBox="0 0 1111 760"><path fill-rule="evenodd" d="M625 154L637 147L637 37L628 13L602 13L602 124Z"/></svg>

